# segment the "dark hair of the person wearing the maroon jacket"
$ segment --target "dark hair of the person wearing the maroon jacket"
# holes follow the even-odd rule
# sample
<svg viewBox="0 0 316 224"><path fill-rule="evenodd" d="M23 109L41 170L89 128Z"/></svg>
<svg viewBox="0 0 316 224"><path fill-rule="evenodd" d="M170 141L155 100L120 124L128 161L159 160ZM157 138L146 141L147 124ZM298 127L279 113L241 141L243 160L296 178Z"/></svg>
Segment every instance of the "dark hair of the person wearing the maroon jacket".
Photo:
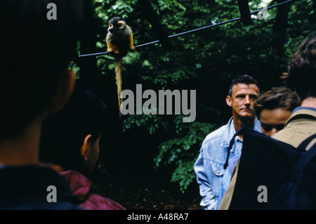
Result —
<svg viewBox="0 0 316 224"><path fill-rule="evenodd" d="M63 169L81 171L81 146L86 136L96 141L105 126L105 103L83 86L75 86L70 100L42 124L39 160Z"/></svg>

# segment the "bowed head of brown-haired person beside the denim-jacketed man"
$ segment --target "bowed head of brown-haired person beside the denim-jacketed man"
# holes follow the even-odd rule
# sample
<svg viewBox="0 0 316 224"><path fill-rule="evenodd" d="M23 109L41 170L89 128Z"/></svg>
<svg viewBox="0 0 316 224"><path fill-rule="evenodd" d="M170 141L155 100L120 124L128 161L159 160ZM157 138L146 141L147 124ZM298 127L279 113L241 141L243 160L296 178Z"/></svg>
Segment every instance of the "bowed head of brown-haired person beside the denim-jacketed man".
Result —
<svg viewBox="0 0 316 224"><path fill-rule="evenodd" d="M261 94L254 105L261 131L267 136L284 129L293 110L300 105L298 95L285 87L275 87Z"/></svg>

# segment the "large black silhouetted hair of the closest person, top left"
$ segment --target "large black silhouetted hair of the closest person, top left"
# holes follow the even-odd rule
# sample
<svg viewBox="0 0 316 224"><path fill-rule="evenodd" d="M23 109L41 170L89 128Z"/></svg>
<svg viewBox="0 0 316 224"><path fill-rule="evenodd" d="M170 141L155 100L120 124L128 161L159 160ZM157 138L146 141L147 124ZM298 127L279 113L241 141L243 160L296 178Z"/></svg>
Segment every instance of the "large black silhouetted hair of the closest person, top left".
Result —
<svg viewBox="0 0 316 224"><path fill-rule="evenodd" d="M84 0L0 1L0 140L22 133L49 107L79 39Z"/></svg>

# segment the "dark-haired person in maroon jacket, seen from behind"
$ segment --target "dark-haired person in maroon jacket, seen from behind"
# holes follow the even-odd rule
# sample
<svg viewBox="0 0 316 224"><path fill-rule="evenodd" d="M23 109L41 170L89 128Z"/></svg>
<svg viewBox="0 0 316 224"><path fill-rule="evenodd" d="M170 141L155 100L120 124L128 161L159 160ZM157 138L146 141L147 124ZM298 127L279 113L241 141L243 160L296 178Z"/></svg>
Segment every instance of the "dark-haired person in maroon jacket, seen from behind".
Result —
<svg viewBox="0 0 316 224"><path fill-rule="evenodd" d="M87 178L98 160L105 112L105 103L98 95L75 86L65 107L44 120L39 160L60 172L82 209L124 210L112 199L93 193L93 183Z"/></svg>

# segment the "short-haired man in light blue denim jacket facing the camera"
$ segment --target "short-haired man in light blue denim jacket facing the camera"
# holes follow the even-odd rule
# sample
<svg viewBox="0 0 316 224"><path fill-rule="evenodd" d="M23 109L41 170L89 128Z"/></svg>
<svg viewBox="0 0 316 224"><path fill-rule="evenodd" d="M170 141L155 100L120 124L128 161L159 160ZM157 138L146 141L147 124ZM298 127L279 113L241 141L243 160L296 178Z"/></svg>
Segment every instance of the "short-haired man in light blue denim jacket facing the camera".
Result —
<svg viewBox="0 0 316 224"><path fill-rule="evenodd" d="M202 196L203 209L218 209L220 200L228 188L232 167L242 150L242 136L235 138L230 150L228 168L224 164L228 156L230 140L242 127L261 132L260 121L256 118L254 103L259 95L258 81L244 74L232 80L226 103L232 107L232 118L228 124L206 136L195 162L195 173Z"/></svg>

